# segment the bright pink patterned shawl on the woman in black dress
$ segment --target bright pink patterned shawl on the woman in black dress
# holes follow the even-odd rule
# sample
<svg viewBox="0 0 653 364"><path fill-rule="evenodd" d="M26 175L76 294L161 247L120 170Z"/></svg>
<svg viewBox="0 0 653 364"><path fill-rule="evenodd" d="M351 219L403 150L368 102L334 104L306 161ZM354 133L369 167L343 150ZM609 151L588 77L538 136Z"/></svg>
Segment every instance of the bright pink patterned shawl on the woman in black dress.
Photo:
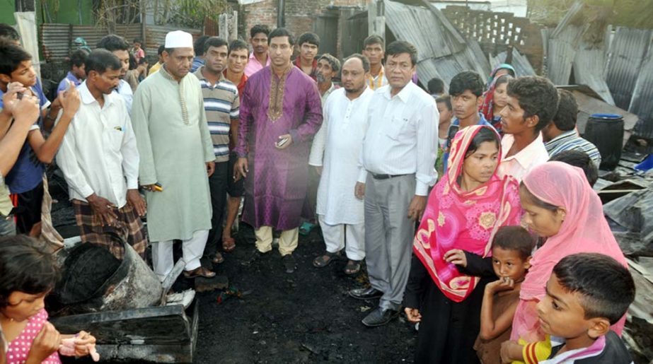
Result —
<svg viewBox="0 0 653 364"><path fill-rule="evenodd" d="M455 302L467 298L480 278L461 274L454 264L444 261L444 253L463 249L488 257L497 229L519 225L521 215L519 185L513 177L501 179L495 170L489 181L473 191L464 192L458 185L467 149L481 128L491 129L481 125L466 127L453 139L451 167L431 192L413 243L413 251L434 283Z"/></svg>

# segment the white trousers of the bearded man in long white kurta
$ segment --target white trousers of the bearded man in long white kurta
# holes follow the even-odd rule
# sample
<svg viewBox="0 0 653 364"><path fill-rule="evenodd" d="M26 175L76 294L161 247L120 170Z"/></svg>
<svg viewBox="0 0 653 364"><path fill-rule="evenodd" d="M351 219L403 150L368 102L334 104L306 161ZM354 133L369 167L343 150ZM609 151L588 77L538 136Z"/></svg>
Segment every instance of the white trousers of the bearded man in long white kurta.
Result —
<svg viewBox="0 0 653 364"><path fill-rule="evenodd" d="M324 215L318 215L322 236L327 252L335 253L345 248L347 258L352 260L365 259L365 224L329 225L324 222ZM345 244L347 242L347 244Z"/></svg>

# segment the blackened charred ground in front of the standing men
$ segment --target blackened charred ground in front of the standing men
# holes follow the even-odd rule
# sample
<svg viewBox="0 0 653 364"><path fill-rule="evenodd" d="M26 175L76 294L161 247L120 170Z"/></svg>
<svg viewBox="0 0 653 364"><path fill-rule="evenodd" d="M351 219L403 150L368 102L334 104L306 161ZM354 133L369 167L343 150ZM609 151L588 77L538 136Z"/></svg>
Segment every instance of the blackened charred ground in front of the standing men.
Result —
<svg viewBox="0 0 653 364"><path fill-rule="evenodd" d="M319 229L300 236L294 274L285 273L276 249L243 266L253 249L253 230L241 223L236 249L216 271L243 295L219 304L217 292L198 294L195 363L412 362L416 334L403 317L374 329L361 323L378 302L347 290L362 287L364 273L346 276L345 260L313 267L324 249Z"/></svg>

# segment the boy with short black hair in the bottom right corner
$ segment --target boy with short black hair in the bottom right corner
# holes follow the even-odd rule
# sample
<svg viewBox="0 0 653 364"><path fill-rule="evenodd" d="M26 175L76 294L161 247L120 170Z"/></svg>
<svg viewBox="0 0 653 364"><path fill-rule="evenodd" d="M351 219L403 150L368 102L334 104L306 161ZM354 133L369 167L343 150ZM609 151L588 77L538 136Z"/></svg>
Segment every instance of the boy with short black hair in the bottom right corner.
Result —
<svg viewBox="0 0 653 364"><path fill-rule="evenodd" d="M550 336L547 358L536 358L533 344L507 341L501 346L504 363L524 356L526 363L628 364L630 353L610 330L635 300L630 272L603 254L579 253L560 260L537 305L541 328ZM540 343L538 343L540 344ZM546 343L545 343L546 344Z"/></svg>

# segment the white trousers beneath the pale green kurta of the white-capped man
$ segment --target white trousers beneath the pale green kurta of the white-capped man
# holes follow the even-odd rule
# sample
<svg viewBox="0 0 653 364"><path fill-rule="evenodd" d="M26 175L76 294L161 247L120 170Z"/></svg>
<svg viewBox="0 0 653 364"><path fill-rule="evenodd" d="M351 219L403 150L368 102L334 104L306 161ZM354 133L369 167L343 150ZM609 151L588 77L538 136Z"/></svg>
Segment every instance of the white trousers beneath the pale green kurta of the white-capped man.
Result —
<svg viewBox="0 0 653 364"><path fill-rule="evenodd" d="M204 252L204 246L207 245L207 237L209 237L209 230L197 230L192 233L190 239L181 242L182 259L186 263L184 270L192 271L200 267L200 258ZM161 281L166 278L175 265L173 242L174 240L166 240L152 244L152 265L154 273Z"/></svg>

